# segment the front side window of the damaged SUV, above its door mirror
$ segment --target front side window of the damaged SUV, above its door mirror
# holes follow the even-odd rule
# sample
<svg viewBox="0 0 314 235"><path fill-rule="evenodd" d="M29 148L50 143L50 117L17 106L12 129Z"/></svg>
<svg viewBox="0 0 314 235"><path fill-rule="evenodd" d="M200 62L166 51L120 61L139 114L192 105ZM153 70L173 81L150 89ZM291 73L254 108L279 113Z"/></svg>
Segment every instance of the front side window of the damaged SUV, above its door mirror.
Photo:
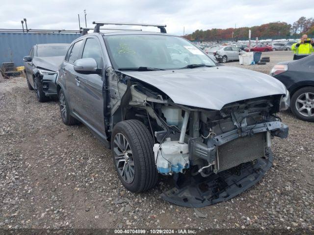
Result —
<svg viewBox="0 0 314 235"><path fill-rule="evenodd" d="M104 66L103 56L97 39L95 38L86 39L82 58L93 58L96 60L98 68L103 68Z"/></svg>

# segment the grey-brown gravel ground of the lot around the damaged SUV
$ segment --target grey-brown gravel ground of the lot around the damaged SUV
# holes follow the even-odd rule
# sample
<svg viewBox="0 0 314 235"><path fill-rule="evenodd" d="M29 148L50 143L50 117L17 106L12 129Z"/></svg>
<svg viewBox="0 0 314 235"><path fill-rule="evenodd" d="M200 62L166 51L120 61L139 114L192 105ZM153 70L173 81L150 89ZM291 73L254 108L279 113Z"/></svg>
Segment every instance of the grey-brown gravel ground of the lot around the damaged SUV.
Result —
<svg viewBox="0 0 314 235"><path fill-rule="evenodd" d="M266 53L263 53L266 54ZM268 73L291 52L268 52ZM239 66L238 62L226 63ZM287 140L272 142L274 164L262 181L227 202L183 208L122 186L110 151L83 126L65 126L57 101L38 103L23 77L0 83L0 228L258 228L314 226L314 123L280 115Z"/></svg>

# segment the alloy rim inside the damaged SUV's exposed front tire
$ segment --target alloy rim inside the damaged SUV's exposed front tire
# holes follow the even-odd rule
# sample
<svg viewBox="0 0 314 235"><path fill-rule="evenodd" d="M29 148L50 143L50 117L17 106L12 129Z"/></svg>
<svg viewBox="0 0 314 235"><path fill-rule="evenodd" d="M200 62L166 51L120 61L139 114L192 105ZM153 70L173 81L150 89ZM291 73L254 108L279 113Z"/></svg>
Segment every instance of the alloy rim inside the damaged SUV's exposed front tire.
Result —
<svg viewBox="0 0 314 235"><path fill-rule="evenodd" d="M134 161L129 141L122 133L117 133L113 143L114 161L122 179L131 184L134 180Z"/></svg>

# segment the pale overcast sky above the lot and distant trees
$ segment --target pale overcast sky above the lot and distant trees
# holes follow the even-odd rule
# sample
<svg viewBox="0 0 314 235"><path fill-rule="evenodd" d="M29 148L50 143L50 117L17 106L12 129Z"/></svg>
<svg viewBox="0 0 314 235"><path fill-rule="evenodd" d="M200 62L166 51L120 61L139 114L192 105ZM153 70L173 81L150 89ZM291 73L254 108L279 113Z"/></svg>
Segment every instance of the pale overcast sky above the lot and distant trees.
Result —
<svg viewBox="0 0 314 235"><path fill-rule="evenodd" d="M299 4L300 3L300 4ZM254 26L314 17L314 0L1 0L0 28L78 29L93 21L167 24L182 35L196 29Z"/></svg>

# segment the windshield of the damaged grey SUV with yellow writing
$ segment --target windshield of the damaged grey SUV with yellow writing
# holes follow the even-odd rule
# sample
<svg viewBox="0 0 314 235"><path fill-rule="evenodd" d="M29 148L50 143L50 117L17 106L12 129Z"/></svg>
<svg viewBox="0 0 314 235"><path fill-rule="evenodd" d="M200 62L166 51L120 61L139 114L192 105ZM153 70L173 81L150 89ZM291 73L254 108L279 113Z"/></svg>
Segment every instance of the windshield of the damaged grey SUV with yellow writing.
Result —
<svg viewBox="0 0 314 235"><path fill-rule="evenodd" d="M215 66L202 50L187 40L167 35L105 36L113 67L175 70L191 64Z"/></svg>

